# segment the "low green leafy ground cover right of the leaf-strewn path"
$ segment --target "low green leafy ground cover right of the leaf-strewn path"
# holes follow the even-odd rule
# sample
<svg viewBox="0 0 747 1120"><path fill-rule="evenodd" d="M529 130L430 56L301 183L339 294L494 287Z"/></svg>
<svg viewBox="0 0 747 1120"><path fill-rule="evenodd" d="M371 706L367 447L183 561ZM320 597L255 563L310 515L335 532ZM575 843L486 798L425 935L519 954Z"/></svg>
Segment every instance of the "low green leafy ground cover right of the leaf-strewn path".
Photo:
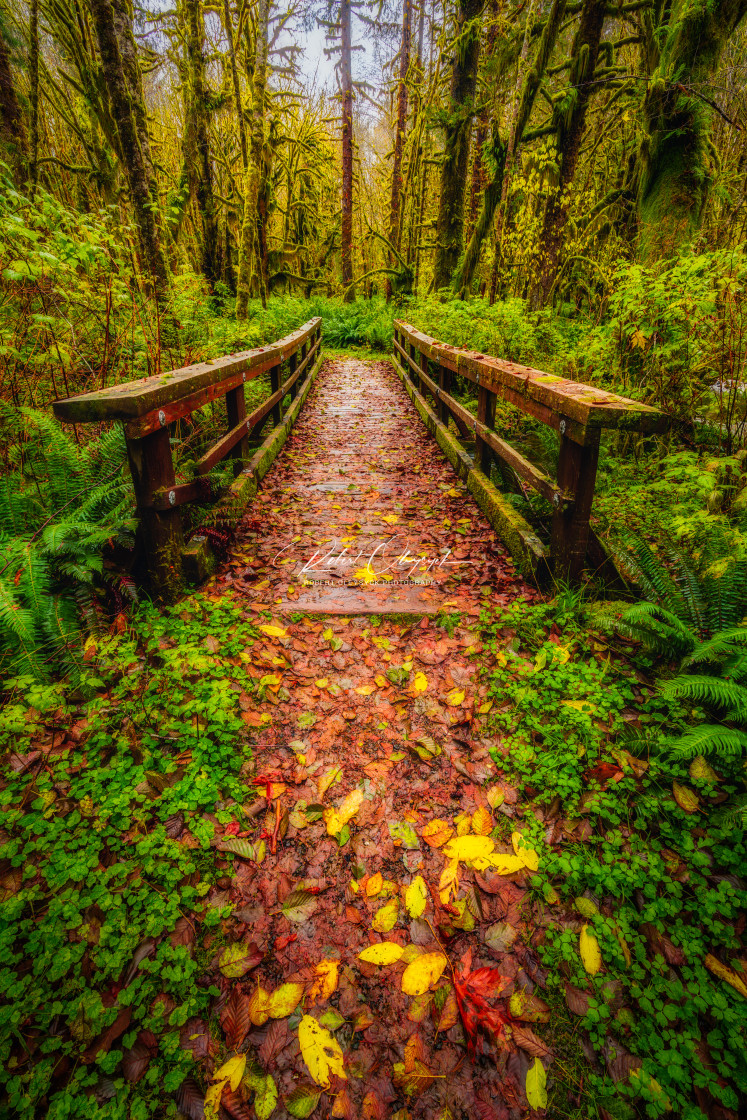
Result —
<svg viewBox="0 0 747 1120"><path fill-rule="evenodd" d="M747 852L725 809L744 769L669 754L689 710L578 617L562 599L483 616L494 757L545 841L548 991L579 1023L604 1114L741 1114Z"/></svg>

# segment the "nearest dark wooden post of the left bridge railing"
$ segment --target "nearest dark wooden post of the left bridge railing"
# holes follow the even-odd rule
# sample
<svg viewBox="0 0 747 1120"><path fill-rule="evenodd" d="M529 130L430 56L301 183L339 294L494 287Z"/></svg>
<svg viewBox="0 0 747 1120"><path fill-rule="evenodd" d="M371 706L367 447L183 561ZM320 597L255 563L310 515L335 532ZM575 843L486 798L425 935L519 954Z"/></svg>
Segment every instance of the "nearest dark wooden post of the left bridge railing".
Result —
<svg viewBox="0 0 747 1120"><path fill-rule="evenodd" d="M127 452L140 514L148 576L156 597L170 601L183 587L181 513L178 507L162 511L152 507L156 492L168 491L175 484L168 427L137 439L128 437Z"/></svg>

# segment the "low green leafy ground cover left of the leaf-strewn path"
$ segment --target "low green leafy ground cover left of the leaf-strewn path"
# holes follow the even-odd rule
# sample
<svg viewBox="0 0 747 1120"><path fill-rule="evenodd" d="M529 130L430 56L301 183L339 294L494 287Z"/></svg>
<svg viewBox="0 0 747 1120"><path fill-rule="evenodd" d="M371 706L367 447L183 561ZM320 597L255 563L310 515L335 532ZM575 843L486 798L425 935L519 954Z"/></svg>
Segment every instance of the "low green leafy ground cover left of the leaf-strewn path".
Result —
<svg viewBox="0 0 747 1120"><path fill-rule="evenodd" d="M146 605L88 645L75 693L8 682L0 1063L12 1114L144 1120L193 1067L180 1032L216 991L199 979L226 913L206 900L226 874L211 840L215 822L243 819L251 752L234 681L254 636L220 599Z"/></svg>

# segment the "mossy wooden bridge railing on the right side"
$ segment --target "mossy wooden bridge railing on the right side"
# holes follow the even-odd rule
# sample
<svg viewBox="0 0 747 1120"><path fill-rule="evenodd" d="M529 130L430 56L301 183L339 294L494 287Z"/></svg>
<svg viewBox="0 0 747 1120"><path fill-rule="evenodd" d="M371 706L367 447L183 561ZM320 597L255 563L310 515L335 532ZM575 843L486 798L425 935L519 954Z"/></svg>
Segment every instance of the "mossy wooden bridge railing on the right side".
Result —
<svg viewBox="0 0 747 1120"><path fill-rule="evenodd" d="M394 321L395 361L398 356L401 374L426 407L424 394L430 393L437 420L448 426L451 417L463 437L474 438L473 469L489 479L495 457L550 502L550 556L541 554L540 542L533 536L533 561L544 562L555 578L570 581L579 578L587 553L594 567L601 567L605 552L589 524L600 433L605 428L663 431L667 418L657 409L594 385L436 342L401 320ZM454 374L477 386L477 416L451 394ZM558 432L560 454L554 479L497 435L498 398ZM526 535L533 535L529 526L526 530Z"/></svg>

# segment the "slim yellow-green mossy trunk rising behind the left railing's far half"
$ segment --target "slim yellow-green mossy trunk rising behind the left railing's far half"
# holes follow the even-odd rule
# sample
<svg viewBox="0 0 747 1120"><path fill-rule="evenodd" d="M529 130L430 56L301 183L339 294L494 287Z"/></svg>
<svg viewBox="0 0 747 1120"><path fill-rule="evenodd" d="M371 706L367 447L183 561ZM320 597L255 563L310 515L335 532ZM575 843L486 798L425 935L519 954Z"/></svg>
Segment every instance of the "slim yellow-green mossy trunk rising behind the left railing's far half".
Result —
<svg viewBox="0 0 747 1120"><path fill-rule="evenodd" d="M252 133L249 151L249 171L244 192L244 215L241 226L239 280L236 283L236 318L245 319L253 282L259 283L263 305L267 292L261 282L258 220L262 177L262 148L264 146L264 97L268 83L268 25L269 0L260 0L256 15L256 43L254 74L252 77Z"/></svg>

